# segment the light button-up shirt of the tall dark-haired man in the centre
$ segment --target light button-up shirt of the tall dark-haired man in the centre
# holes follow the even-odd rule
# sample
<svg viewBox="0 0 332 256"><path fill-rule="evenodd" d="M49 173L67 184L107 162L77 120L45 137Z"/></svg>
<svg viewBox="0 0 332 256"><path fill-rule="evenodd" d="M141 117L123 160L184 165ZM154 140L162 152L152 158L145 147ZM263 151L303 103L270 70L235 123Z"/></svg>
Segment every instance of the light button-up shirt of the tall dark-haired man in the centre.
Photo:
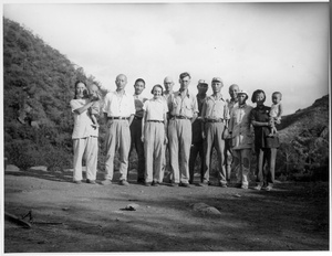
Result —
<svg viewBox="0 0 332 256"><path fill-rule="evenodd" d="M196 96L187 90L185 97L181 93L175 92L168 97L168 108L172 116L184 116L193 118L195 113L198 113L198 105Z"/></svg>

